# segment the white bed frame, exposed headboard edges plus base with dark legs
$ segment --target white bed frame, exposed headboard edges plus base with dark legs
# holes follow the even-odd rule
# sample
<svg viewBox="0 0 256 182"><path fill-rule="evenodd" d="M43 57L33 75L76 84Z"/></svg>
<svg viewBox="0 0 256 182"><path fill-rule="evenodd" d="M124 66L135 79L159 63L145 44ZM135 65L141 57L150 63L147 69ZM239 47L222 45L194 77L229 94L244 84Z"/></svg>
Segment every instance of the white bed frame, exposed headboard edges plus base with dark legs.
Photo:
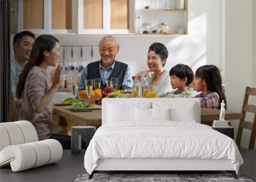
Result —
<svg viewBox="0 0 256 182"><path fill-rule="evenodd" d="M182 99L163 99L163 98L108 98L102 100L102 125L107 123L106 118L108 118L108 103L111 102L122 102L128 104L134 104L136 102L152 102L152 101L168 101L173 102ZM196 123L200 123L200 100L198 98L186 98L186 102L195 102L195 113L196 113ZM147 171L150 173L170 173L171 171L227 171L232 174L232 176L237 179L236 171L231 164L230 160L212 160L212 159L163 159L163 158L108 158L100 159L97 167L95 167L92 174L90 174L89 179L92 179L93 174L100 171Z"/></svg>

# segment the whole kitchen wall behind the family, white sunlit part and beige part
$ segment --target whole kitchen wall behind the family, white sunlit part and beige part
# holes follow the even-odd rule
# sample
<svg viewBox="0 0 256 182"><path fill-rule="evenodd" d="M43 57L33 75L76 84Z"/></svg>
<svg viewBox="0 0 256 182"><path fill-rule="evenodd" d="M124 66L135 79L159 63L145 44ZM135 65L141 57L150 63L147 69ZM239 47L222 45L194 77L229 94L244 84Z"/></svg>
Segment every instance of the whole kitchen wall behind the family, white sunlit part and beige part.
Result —
<svg viewBox="0 0 256 182"><path fill-rule="evenodd" d="M223 29L221 13L224 13L221 11L221 2L223 1L225 1L224 36L221 34ZM189 0L188 3L188 35L116 36L120 43L117 59L129 64L134 75L147 69L149 45L153 42L162 42L168 48L170 55L165 66L166 70L170 70L177 63L188 64L194 71L202 64L216 64L222 70L228 109L241 112L245 87L256 87L256 2L255 0ZM99 35L56 36L61 44L93 43L96 45L102 37ZM224 45L221 41L225 43L225 47L221 47ZM74 60L80 60L79 50L77 51L77 53L75 51ZM70 54L70 50L66 50L66 53ZM94 53L95 56L92 59L90 47L84 48L83 63L99 60L97 46L94 47ZM70 59L67 54L66 59ZM225 60L221 60L222 56ZM238 122L234 122L236 130L237 125ZM243 135L243 146L248 144L248 134L246 132Z"/></svg>

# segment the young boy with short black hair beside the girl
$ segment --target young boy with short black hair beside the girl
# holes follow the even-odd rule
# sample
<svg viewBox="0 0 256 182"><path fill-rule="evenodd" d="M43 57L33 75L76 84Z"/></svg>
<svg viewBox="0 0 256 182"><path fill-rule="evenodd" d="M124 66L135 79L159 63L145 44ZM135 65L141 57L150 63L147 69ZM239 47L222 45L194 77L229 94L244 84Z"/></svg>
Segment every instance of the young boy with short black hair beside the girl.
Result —
<svg viewBox="0 0 256 182"><path fill-rule="evenodd" d="M177 64L170 70L171 84L175 91L165 93L162 98L194 98L196 91L188 86L193 82L194 73L185 64Z"/></svg>

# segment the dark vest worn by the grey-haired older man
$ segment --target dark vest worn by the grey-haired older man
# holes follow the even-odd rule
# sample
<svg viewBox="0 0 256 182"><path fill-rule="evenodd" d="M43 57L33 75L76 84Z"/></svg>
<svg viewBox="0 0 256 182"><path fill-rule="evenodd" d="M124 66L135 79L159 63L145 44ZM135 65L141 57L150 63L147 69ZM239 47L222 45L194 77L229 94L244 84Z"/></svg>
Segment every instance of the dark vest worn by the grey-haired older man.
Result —
<svg viewBox="0 0 256 182"><path fill-rule="evenodd" d="M125 73L127 70L127 64L115 61L115 66L112 73L109 75L108 80L111 78L118 78L117 89L122 89L122 84L124 82ZM100 78L100 61L96 61L87 65L87 78L86 79L100 79L100 89L106 87Z"/></svg>

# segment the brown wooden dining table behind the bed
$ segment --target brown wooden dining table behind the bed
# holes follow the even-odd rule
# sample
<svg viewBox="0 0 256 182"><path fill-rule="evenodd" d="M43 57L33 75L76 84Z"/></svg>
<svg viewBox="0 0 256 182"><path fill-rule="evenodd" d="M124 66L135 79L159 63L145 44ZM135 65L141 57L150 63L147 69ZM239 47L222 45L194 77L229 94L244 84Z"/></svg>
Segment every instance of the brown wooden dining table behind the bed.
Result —
<svg viewBox="0 0 256 182"><path fill-rule="evenodd" d="M53 114L59 117L58 125L67 128L68 121L75 122L76 125L95 126L99 128L101 126L101 109L89 110L86 112L72 112L67 106L54 105ZM241 112L232 112L226 110L225 119L232 122L240 119L242 116ZM213 120L218 120L220 117L220 110L218 109L206 109L201 108L201 123L204 125L212 126Z"/></svg>

